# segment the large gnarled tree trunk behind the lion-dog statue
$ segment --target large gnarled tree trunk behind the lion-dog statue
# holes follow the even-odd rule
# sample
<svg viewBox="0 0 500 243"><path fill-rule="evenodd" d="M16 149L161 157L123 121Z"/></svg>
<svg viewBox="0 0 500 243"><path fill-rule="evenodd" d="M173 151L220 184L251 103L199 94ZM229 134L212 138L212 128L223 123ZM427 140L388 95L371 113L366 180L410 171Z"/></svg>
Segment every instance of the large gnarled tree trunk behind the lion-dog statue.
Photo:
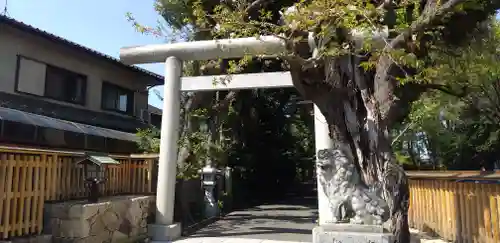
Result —
<svg viewBox="0 0 500 243"><path fill-rule="evenodd" d="M362 186L381 189L396 242L410 242L408 179L396 163L388 132L390 123L384 119L388 116L380 109L392 104L376 102L375 91L382 90L374 87L373 74L360 70L356 58L335 58L323 65L305 71L292 64L294 85L321 110L329 125L329 136L345 149L346 158L361 175ZM392 89L386 92L378 95L389 96Z"/></svg>

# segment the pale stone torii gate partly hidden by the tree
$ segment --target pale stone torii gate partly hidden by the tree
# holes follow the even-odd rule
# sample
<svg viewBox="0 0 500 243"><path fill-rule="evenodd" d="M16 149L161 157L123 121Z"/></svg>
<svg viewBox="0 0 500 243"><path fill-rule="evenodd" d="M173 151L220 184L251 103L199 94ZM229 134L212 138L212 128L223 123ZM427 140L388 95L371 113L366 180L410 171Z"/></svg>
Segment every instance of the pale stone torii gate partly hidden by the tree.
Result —
<svg viewBox="0 0 500 243"><path fill-rule="evenodd" d="M171 241L181 234L180 225L173 222L181 92L293 87L289 72L230 75L227 84L213 83L214 78L225 78L227 75L182 77L182 61L276 55L284 51L285 42L274 36L156 44L120 50L120 59L126 64L165 62L156 220L155 224L148 226L148 234L153 242ZM316 152L331 148L326 120L316 106L314 118ZM205 173L215 173L213 168L206 169L208 171L205 170ZM326 224L333 215L321 183L317 184L321 225Z"/></svg>

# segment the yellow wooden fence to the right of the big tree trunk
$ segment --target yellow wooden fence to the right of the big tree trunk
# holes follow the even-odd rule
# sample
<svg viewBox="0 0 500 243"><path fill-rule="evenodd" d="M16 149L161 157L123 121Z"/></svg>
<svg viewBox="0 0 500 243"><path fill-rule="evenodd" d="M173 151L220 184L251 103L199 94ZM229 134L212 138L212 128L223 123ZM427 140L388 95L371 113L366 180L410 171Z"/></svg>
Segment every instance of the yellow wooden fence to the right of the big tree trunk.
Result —
<svg viewBox="0 0 500 243"><path fill-rule="evenodd" d="M458 243L500 242L500 172L412 171L408 176L410 227Z"/></svg>

